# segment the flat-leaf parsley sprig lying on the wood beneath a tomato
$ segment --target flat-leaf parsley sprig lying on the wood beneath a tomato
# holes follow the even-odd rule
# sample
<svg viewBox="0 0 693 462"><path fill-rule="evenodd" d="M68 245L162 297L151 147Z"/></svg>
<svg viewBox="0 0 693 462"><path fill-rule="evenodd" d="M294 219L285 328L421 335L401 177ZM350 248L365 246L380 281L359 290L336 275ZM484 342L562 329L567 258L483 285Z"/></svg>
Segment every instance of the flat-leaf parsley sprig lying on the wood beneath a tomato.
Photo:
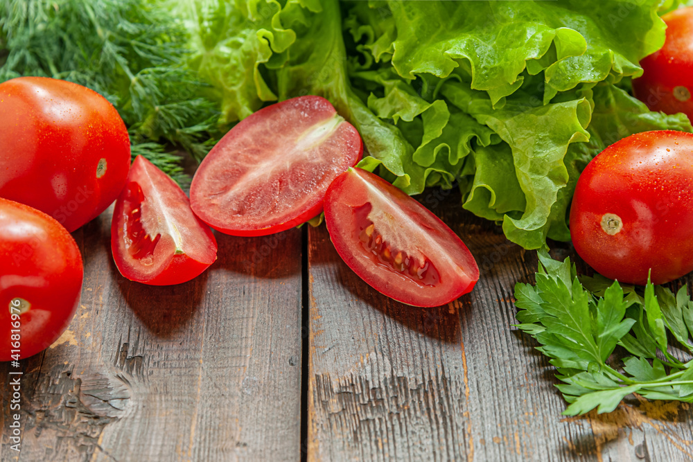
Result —
<svg viewBox="0 0 693 462"><path fill-rule="evenodd" d="M622 287L598 275L578 277L568 258L538 256L536 285L515 286L516 317L556 366L563 382L556 387L570 403L563 414L611 412L631 393L693 402L693 301L686 286L676 295L651 283L644 290ZM614 354L617 347L625 357Z"/></svg>

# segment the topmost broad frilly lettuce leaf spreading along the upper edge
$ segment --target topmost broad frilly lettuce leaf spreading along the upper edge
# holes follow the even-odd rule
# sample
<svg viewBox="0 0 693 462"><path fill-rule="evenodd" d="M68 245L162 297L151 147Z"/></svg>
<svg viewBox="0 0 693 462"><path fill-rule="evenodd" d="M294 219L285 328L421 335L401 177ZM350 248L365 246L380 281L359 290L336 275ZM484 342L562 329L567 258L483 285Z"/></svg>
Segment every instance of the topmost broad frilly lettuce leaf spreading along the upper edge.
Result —
<svg viewBox="0 0 693 462"><path fill-rule="evenodd" d="M547 91L555 94L610 73L616 79L639 75L640 59L664 43L659 3L371 1L371 16L389 12L396 31L372 30L367 48L376 49L375 60L382 58L383 35L377 33L387 34L393 42L385 49L392 50L392 66L405 80L462 70L471 75L473 89L489 91L494 100L518 88L532 61L532 73L545 69ZM355 15L367 15L362 5L357 8Z"/></svg>

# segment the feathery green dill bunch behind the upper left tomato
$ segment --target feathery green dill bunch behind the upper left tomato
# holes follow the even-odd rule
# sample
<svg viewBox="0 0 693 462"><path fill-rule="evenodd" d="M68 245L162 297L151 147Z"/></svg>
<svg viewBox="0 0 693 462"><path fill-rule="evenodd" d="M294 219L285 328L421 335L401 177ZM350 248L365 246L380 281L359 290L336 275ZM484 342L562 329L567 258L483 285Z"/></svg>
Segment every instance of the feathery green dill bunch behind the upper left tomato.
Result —
<svg viewBox="0 0 693 462"><path fill-rule="evenodd" d="M0 81L70 80L102 94L143 154L179 182L182 148L202 159L218 140L218 103L188 68L188 33L166 3L7 0L0 3Z"/></svg>

